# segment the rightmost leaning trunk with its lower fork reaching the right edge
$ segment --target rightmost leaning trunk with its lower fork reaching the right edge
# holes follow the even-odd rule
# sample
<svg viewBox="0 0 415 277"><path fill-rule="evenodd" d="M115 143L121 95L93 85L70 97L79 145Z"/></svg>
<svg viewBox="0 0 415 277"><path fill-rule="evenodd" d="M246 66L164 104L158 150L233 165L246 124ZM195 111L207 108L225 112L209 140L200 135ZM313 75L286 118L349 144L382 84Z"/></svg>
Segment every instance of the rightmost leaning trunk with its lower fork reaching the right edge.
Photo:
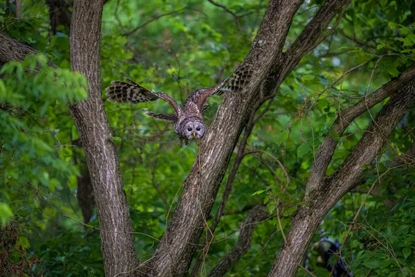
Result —
<svg viewBox="0 0 415 277"><path fill-rule="evenodd" d="M412 70L410 69L410 71ZM385 89L385 87L389 89L389 91L385 91L387 95L394 93L396 87L399 87L399 89L391 96L389 102L382 107L374 122L371 123L358 145L344 160L342 166L330 177L324 177L318 183L307 184L308 189L304 197L307 205L299 207L291 230L286 237L284 247L279 252L268 276L294 276L297 267L302 261L304 251L306 251L315 233L315 229L317 229L326 213L358 181L362 175L363 166L373 161L394 127L396 127L408 109L414 105L414 78L406 82L405 87L402 87L399 82L390 82L382 89ZM353 107L351 110L353 110ZM322 143L317 153L320 153L320 155L322 155L321 153L326 153L321 149L326 147L325 145ZM326 154L331 157L332 153ZM325 171L326 168L324 169Z"/></svg>

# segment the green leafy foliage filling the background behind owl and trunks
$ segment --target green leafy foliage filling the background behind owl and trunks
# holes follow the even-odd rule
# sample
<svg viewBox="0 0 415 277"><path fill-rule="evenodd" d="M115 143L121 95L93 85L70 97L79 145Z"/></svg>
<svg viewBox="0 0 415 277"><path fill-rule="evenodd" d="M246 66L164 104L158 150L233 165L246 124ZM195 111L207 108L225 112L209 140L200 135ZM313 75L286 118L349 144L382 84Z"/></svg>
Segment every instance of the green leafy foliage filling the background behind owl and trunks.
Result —
<svg viewBox="0 0 415 277"><path fill-rule="evenodd" d="M69 26L63 23L53 32L49 6L43 0L22 1L19 18L10 2L0 4L2 32L39 54L24 62L0 63L0 275L20 276L22 270L27 276L103 276L98 213L79 134L68 111L68 105L87 97L88 85L84 76L70 71ZM216 2L105 3L102 99L111 80L126 77L181 102L191 91L228 77L246 57L267 3L221 0L219 6ZM284 48L294 42L322 2L304 1ZM71 12L71 8L59 10ZM207 276L232 249L250 208L260 204L266 204L270 217L257 224L248 253L228 274L268 274L284 244L280 229L288 233L297 208L304 205L306 181L324 137L338 140L326 172L331 175L387 100L359 116L342 136L329 131L339 112L414 64L414 11L414 1L352 1L337 28L302 58L277 96L259 109L261 117L248 139L214 242L203 258L201 276ZM50 67L48 60L59 69ZM212 105L204 113L208 124L221 100L210 98ZM165 233L199 145L192 142L179 148L169 123L145 115L147 110L172 112L166 102L106 101L104 105L137 256L144 261ZM340 244L347 237L341 256L354 276L415 275L414 128L412 107L375 161L365 166L356 188L331 209L315 233L311 245L322 233ZM230 165L233 161L234 155ZM208 226L223 190L224 185L206 218ZM356 213L357 222L348 233ZM205 230L199 250L207 235ZM329 276L330 271L316 265L316 249L309 251L306 267L315 276ZM297 274L306 272L299 269Z"/></svg>

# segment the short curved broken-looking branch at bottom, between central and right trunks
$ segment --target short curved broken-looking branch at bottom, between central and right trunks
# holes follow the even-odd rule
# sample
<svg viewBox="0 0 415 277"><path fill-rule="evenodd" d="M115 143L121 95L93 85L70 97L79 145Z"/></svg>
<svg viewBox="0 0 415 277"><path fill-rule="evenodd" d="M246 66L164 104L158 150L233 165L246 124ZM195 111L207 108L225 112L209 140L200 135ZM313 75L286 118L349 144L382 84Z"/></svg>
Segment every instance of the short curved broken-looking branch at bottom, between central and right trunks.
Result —
<svg viewBox="0 0 415 277"><path fill-rule="evenodd" d="M255 206L252 208L248 217L246 217L246 220L243 222L237 244L235 244L212 271L210 271L210 277L224 276L239 259L248 253L255 227L259 222L266 220L269 216L270 214L266 211L264 206Z"/></svg>

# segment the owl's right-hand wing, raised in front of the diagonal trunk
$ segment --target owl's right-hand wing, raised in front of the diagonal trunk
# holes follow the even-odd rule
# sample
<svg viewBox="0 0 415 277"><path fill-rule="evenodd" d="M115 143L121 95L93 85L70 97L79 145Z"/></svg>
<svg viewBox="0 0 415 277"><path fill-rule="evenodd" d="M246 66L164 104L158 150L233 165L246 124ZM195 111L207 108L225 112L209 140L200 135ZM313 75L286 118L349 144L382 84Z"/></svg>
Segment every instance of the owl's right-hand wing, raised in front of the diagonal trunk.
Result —
<svg viewBox="0 0 415 277"><path fill-rule="evenodd" d="M243 86L250 81L251 76L252 71L250 70L250 67L241 66L216 87L193 91L192 94L187 97L184 107L187 109L187 106L190 106L190 103L193 102L197 105L199 111L203 112L203 106L210 96L214 94L221 95L224 92L241 91Z"/></svg>

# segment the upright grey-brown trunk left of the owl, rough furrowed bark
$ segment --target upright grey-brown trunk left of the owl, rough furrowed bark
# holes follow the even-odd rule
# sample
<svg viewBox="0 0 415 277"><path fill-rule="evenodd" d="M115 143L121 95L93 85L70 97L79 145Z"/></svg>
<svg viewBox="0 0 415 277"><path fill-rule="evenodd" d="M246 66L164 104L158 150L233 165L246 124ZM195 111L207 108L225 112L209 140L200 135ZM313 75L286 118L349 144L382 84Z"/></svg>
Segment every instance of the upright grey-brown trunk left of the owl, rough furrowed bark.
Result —
<svg viewBox="0 0 415 277"><path fill-rule="evenodd" d="M71 69L86 76L89 98L71 107L80 132L100 219L106 276L131 271L136 262L127 199L101 97L100 32L103 0L77 0L71 25Z"/></svg>

